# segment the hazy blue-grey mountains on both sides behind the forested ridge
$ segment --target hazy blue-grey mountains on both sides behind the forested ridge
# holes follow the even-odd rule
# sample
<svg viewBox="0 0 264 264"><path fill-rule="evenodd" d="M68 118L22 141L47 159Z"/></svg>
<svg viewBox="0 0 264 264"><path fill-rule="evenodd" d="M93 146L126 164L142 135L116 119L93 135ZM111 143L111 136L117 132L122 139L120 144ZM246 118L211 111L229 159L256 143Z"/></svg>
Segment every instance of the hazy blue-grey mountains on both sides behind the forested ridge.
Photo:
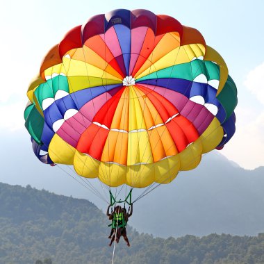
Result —
<svg viewBox="0 0 264 264"><path fill-rule="evenodd" d="M11 140L17 149L10 148L8 140L3 140L1 145L0 181L30 184L40 190L88 199L106 211L106 202L85 188L69 167L40 163L26 133ZM90 182L109 201L108 190L102 190L97 180ZM172 183L160 185L137 201L129 221L138 231L163 238L190 233L195 236L210 233L256 236L264 231L263 188L264 167L244 170L220 151L213 151L204 155L197 169L180 172ZM133 190L133 199L143 191Z"/></svg>

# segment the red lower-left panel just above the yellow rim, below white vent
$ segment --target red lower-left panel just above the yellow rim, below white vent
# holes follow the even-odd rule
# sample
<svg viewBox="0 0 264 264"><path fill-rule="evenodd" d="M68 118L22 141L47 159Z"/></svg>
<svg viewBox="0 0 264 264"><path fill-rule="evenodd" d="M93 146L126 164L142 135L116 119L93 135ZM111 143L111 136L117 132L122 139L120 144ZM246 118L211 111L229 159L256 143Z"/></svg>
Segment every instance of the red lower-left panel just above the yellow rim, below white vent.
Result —
<svg viewBox="0 0 264 264"><path fill-rule="evenodd" d="M108 133L107 129L91 124L81 135L76 149L100 160Z"/></svg>

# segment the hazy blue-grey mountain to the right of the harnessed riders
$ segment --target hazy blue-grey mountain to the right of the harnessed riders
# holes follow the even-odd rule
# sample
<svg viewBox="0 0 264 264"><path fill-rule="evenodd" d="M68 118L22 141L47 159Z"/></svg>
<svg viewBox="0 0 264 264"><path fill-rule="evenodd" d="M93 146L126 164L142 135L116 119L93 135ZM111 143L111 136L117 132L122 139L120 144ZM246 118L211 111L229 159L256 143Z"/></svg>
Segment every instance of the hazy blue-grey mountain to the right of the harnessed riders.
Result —
<svg viewBox="0 0 264 264"><path fill-rule="evenodd" d="M131 224L162 237L256 235L264 231L263 190L264 167L244 170L215 152L204 156L197 169L180 172L135 204Z"/></svg>

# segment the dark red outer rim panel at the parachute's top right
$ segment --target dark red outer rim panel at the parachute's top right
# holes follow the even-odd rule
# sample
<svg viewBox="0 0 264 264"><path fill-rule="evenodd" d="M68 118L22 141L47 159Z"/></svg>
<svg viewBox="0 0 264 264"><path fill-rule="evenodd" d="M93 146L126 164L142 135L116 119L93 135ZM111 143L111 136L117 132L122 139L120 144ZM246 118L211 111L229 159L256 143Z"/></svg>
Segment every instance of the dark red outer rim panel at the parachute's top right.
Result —
<svg viewBox="0 0 264 264"><path fill-rule="evenodd" d="M173 17L169 17L168 15L157 15L156 35L175 31L179 32L180 36L183 33L183 26L178 20Z"/></svg>

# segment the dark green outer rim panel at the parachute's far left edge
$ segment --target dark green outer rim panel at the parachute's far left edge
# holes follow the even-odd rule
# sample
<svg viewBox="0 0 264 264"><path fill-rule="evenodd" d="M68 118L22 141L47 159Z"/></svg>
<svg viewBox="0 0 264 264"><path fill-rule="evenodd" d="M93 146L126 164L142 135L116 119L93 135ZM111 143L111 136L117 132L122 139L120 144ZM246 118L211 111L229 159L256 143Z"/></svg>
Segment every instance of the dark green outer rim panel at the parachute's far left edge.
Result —
<svg viewBox="0 0 264 264"><path fill-rule="evenodd" d="M33 106L33 105L31 105ZM38 144L41 143L41 135L43 131L44 126L44 119L40 113L38 113L38 110L35 108L35 106L28 108L31 108L30 112L28 113L28 108L26 108L25 113L27 112L26 122L25 126L28 130L28 133L30 133L31 137L34 138Z"/></svg>

